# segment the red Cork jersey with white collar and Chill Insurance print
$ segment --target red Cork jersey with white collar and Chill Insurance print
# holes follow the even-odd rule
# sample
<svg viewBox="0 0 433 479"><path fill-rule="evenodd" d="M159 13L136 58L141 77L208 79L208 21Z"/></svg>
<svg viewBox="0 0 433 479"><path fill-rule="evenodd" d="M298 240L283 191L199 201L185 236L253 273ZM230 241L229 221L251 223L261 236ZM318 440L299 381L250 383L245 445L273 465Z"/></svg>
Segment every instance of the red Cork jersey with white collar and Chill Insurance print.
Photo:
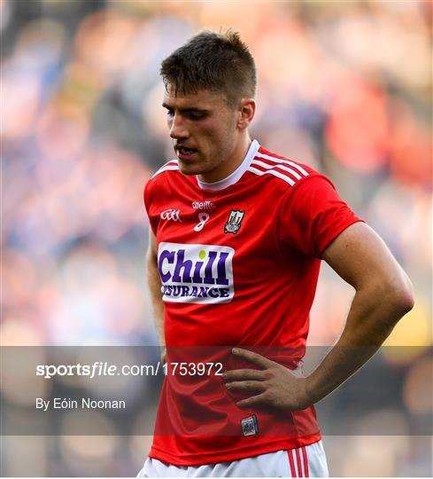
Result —
<svg viewBox="0 0 433 479"><path fill-rule="evenodd" d="M321 254L361 221L329 179L260 147L212 184L168 161L146 185L165 302L166 377L150 457L179 466L242 459L320 440L313 407L236 402L220 373L255 350L300 369Z"/></svg>

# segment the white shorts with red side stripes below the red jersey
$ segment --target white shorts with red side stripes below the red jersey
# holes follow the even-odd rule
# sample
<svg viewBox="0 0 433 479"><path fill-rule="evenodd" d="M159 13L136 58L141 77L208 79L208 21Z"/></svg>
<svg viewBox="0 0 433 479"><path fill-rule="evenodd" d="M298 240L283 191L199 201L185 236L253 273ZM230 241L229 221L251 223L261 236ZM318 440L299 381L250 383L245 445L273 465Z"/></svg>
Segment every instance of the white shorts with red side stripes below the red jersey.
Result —
<svg viewBox="0 0 433 479"><path fill-rule="evenodd" d="M251 458L205 464L174 466L148 458L137 477L328 477L323 444L268 452Z"/></svg>

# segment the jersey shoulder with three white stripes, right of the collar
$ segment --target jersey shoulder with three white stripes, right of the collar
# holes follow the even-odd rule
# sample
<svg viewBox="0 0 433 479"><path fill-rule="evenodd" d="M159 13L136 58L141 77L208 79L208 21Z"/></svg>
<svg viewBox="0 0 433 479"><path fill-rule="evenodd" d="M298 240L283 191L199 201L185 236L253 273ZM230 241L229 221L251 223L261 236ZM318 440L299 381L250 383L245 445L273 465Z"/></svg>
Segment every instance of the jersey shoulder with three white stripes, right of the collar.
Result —
<svg viewBox="0 0 433 479"><path fill-rule="evenodd" d="M252 159L248 168L252 174L262 177L269 187L288 194L297 190L328 184L334 188L328 177L299 161L271 152L263 146ZM299 188L300 185L305 185Z"/></svg>

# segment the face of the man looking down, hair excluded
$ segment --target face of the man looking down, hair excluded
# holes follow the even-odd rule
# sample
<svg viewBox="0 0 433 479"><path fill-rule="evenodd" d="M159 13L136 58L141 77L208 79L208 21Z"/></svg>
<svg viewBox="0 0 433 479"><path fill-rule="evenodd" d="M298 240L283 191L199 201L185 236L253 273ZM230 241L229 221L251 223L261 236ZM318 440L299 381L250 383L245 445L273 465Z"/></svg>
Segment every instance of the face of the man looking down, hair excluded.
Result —
<svg viewBox="0 0 433 479"><path fill-rule="evenodd" d="M224 177L238 137L238 112L226 97L210 90L175 96L168 88L163 106L182 173L200 175L204 181Z"/></svg>

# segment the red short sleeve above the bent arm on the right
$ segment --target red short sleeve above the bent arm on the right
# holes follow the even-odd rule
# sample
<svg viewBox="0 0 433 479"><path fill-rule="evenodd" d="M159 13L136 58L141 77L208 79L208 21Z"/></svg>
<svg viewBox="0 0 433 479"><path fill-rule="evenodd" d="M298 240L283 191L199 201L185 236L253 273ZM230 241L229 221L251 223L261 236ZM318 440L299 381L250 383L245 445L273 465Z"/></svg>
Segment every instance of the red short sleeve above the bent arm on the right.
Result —
<svg viewBox="0 0 433 479"><path fill-rule="evenodd" d="M332 240L363 221L342 200L327 177L305 178L280 204L278 240L283 247L321 257Z"/></svg>

